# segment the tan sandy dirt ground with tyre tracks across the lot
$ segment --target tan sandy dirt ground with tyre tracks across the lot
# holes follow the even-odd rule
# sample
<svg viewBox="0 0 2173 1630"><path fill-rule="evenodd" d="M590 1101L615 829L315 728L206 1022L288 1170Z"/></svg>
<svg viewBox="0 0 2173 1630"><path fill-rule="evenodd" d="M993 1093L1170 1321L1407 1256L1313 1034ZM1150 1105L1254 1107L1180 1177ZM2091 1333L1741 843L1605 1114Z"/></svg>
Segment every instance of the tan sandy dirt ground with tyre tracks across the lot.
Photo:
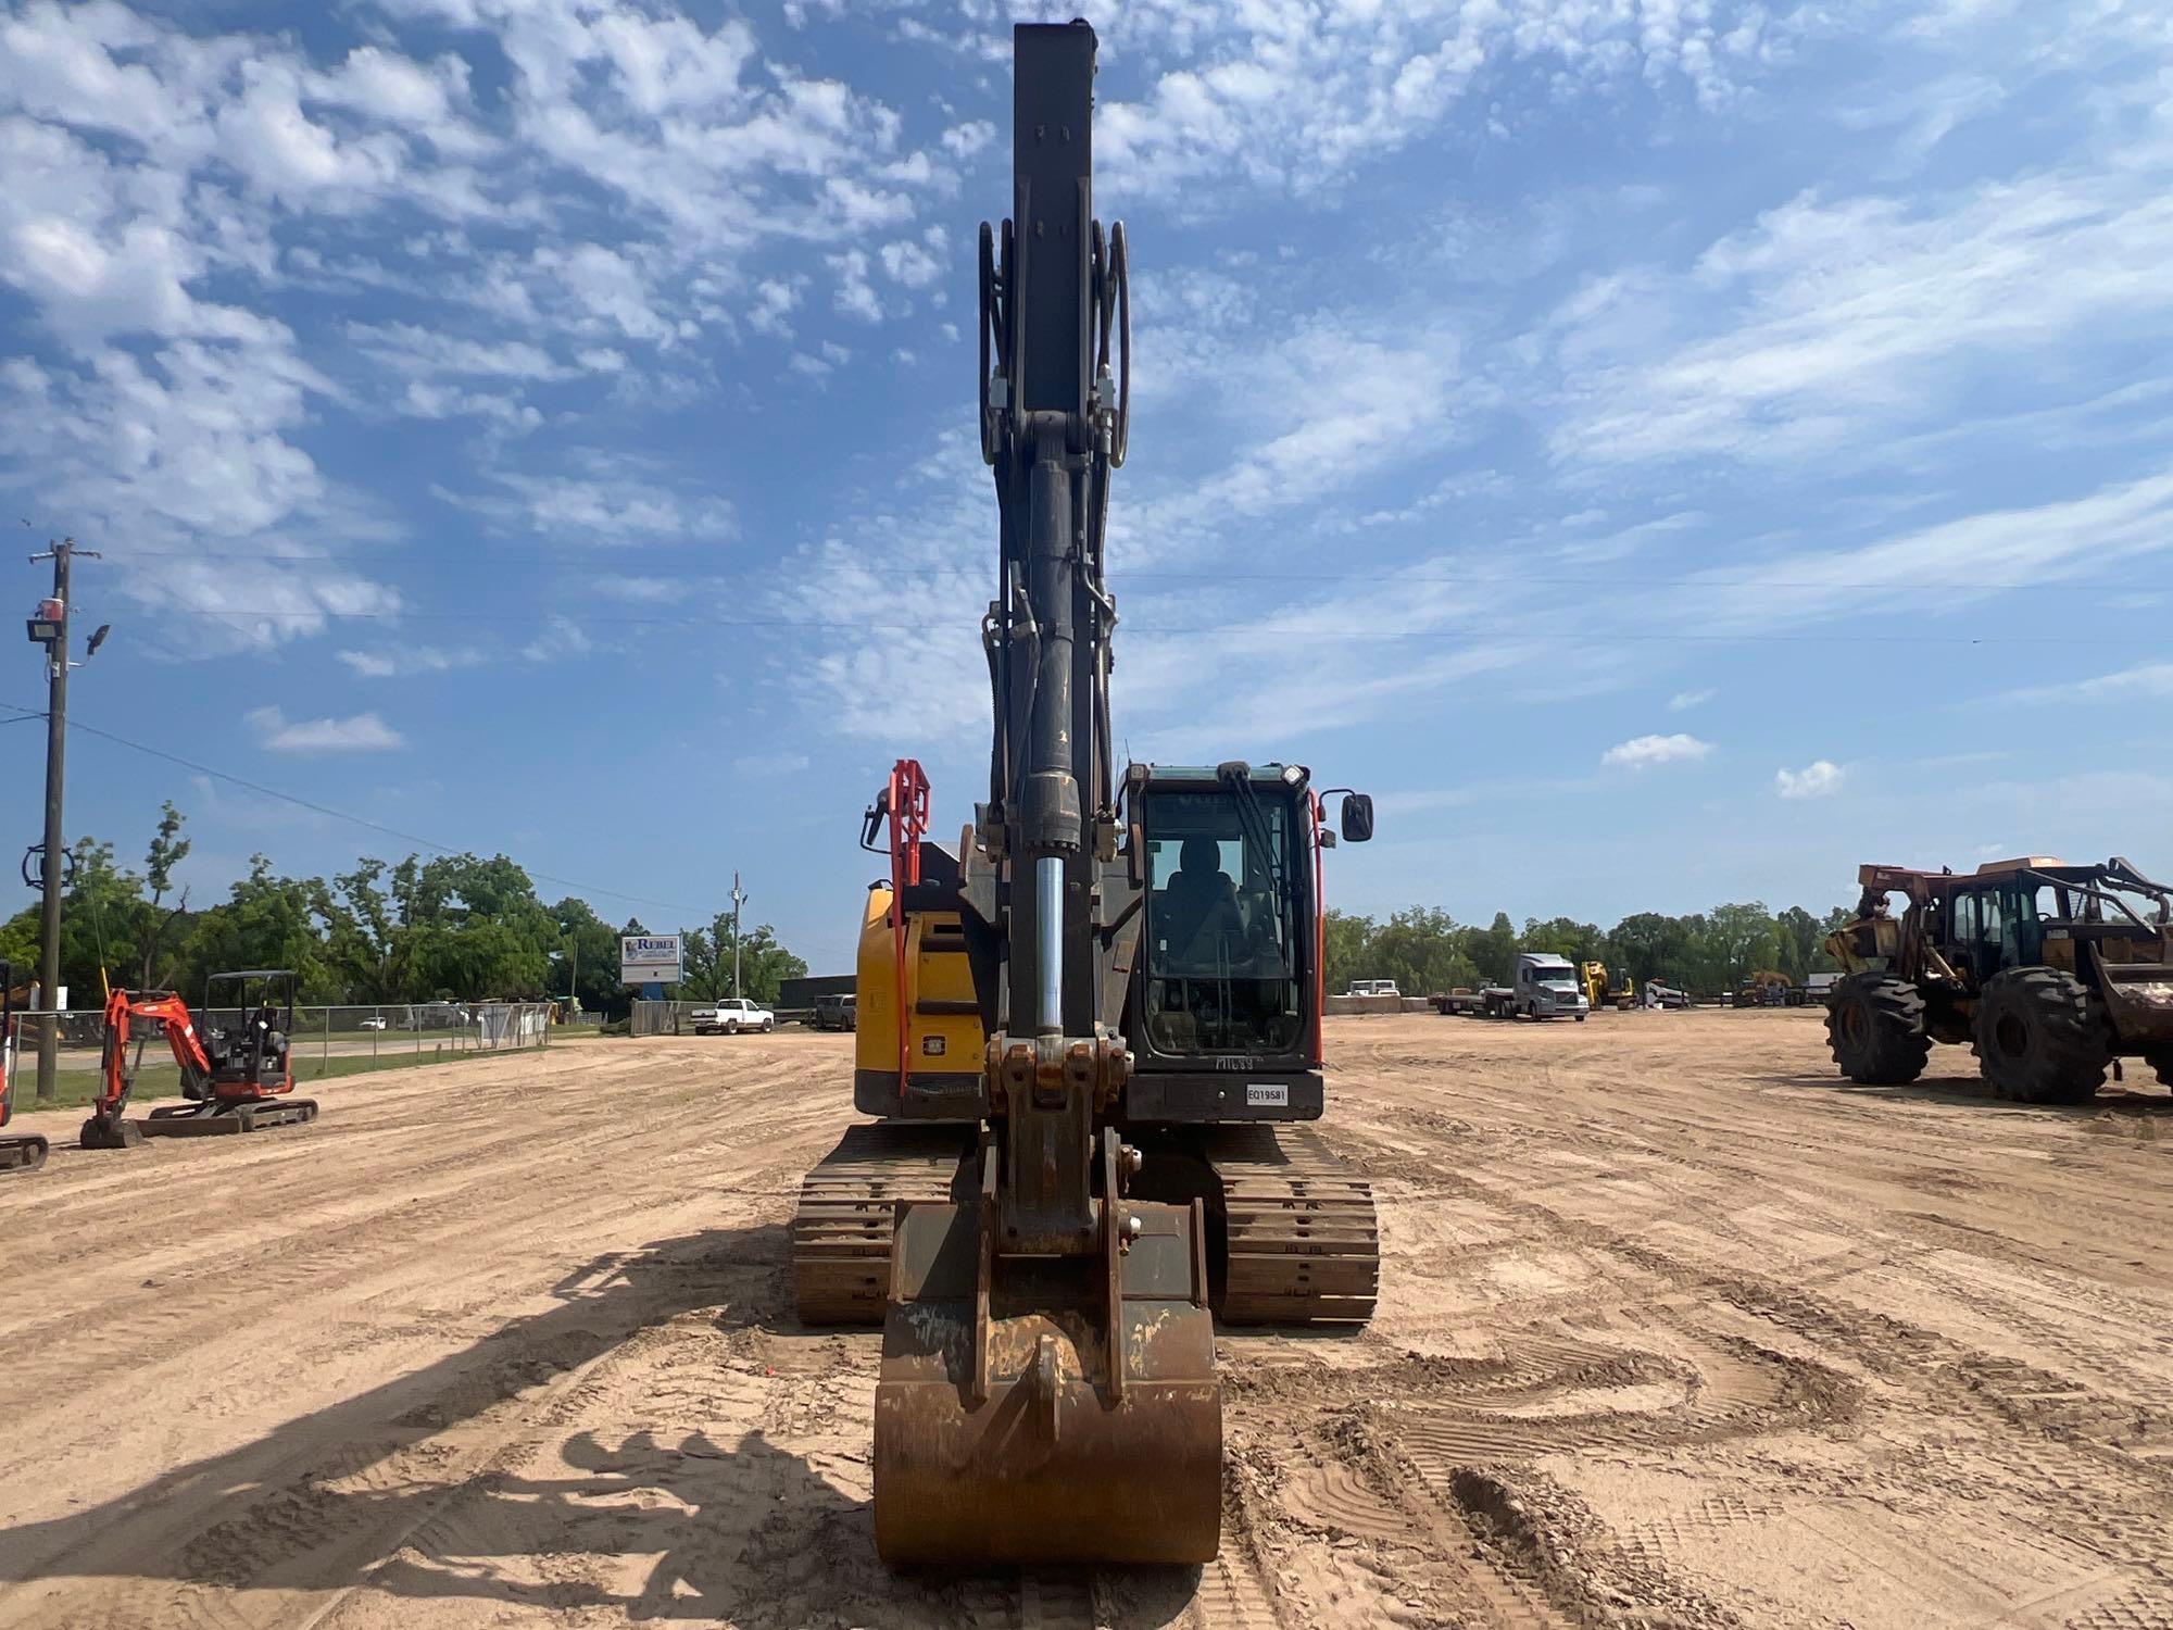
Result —
<svg viewBox="0 0 2173 1630"><path fill-rule="evenodd" d="M1226 1332L1204 1571L895 1580L784 1221L850 1037L328 1082L0 1180L0 1628L2173 1626L2173 1102L1814 1013L1330 1021L1356 1337ZM67 1137L70 1145L59 1148Z"/></svg>

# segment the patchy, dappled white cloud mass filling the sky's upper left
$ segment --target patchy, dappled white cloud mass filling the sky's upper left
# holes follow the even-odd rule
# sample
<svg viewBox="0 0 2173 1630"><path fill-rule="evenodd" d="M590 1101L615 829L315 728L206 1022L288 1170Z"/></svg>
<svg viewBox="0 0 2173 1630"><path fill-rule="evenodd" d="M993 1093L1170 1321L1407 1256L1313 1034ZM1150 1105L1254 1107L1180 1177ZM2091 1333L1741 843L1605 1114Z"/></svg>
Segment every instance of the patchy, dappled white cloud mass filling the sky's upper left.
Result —
<svg viewBox="0 0 2173 1630"><path fill-rule="evenodd" d="M528 396L585 374L652 404L687 398L708 383L706 356L693 378L656 359L682 356L704 326L789 330L806 274L771 250L941 241L906 237L921 193L952 178L908 150L900 115L758 54L741 20L522 0L378 9L452 48L404 54L380 17L319 54L315 37L185 28L106 0L0 13L0 287L59 346L15 348L37 361L0 372L0 413L20 426L0 487L35 491L78 532L139 543L122 585L146 604L196 595L198 574L152 565L152 550L183 559L217 537L278 554L291 528L330 554L350 522L382 526L309 452L326 409L374 398L469 419L495 448L543 428ZM491 63L480 104L469 61ZM893 256L893 276L919 278L915 254ZM296 293L311 298L274 306ZM367 298L372 322L326 322L339 298ZM335 380L304 356L337 333L363 367ZM728 519L698 500L658 513L613 491L530 498L548 526L691 535ZM350 567L296 582L274 569L250 595L274 615L228 626L306 635L330 600L363 593L398 604ZM217 595L233 604L230 585Z"/></svg>

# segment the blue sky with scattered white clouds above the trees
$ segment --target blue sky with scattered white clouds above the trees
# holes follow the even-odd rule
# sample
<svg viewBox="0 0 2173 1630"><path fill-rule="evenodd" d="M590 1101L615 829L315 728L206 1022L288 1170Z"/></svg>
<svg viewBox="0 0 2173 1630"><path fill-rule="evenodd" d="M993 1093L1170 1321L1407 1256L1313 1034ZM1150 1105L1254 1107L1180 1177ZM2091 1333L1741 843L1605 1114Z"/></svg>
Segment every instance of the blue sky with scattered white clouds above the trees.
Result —
<svg viewBox="0 0 2173 1630"><path fill-rule="evenodd" d="M650 928L739 867L843 967L889 761L943 830L987 774L974 233L1008 24L1073 11L0 9L0 487L106 556L76 717ZM2173 869L2164 7L1093 22L1136 756L1376 791L1362 911ZM200 900L404 850L72 772L124 852L174 798Z"/></svg>

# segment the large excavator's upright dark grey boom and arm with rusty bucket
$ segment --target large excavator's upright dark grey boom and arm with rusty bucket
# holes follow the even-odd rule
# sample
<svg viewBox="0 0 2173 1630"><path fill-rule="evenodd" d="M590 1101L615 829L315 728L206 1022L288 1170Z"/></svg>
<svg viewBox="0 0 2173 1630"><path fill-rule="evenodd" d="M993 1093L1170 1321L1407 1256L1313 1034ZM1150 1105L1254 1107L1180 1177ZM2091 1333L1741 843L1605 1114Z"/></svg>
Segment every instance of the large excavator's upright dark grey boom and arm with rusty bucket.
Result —
<svg viewBox="0 0 2173 1630"><path fill-rule="evenodd" d="M1221 1384L1204 1213L1130 1195L1141 1152L1115 1121L1132 1054L1104 1006L1126 237L1093 217L1093 28L1019 24L1013 41L1013 215L980 235L995 732L958 895L995 945L976 969L995 1019L987 1124L960 1182L971 1198L897 1219L876 1543L893 1565L1208 1563Z"/></svg>

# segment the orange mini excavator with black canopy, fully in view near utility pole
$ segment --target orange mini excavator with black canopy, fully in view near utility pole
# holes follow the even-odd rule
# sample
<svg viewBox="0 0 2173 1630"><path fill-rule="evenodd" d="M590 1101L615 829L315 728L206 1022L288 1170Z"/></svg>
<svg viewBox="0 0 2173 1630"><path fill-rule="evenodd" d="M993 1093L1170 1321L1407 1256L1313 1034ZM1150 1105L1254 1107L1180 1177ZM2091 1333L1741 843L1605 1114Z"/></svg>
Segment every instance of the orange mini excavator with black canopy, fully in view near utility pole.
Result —
<svg viewBox="0 0 2173 1630"><path fill-rule="evenodd" d="M215 998L233 987L230 1006ZM146 1137L202 1137L259 1132L317 1119L317 1100L293 1098L293 974L246 969L213 974L204 982L204 1030L174 991L113 991L106 998L102 1082L91 1119L83 1124L85 1150L128 1150ZM230 1021L222 1021L230 1015ZM128 1061L137 1024L165 1026L165 1043L180 1065L187 1104L161 1104L141 1121L124 1119L135 1089Z"/></svg>

